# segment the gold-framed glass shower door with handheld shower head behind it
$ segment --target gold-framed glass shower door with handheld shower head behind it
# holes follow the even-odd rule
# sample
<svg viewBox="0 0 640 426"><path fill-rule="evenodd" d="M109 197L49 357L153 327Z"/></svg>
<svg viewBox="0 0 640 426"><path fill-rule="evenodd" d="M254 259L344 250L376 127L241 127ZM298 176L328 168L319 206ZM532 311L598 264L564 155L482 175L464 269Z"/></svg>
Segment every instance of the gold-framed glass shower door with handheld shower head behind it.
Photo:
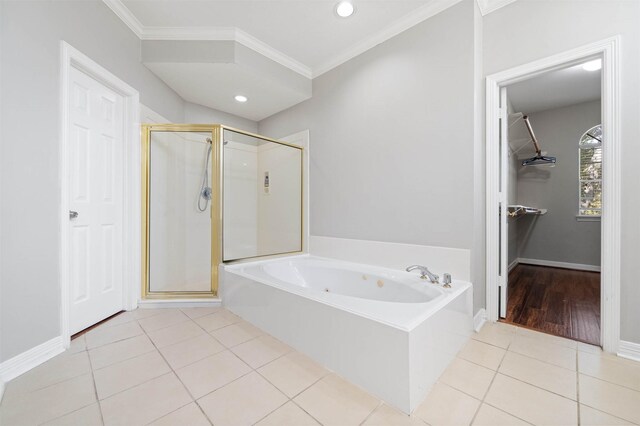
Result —
<svg viewBox="0 0 640 426"><path fill-rule="evenodd" d="M145 298L216 293L217 133L183 127L146 129Z"/></svg>

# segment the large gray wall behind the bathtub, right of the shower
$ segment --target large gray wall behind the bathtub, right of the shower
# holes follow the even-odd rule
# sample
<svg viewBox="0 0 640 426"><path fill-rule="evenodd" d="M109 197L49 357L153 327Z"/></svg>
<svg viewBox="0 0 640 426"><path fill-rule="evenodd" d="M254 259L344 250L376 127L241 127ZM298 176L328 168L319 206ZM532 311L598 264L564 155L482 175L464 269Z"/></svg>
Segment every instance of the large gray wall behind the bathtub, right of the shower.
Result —
<svg viewBox="0 0 640 426"><path fill-rule="evenodd" d="M471 248L474 1L313 80L259 123L311 137L311 234ZM428 262L428 260L425 260Z"/></svg>

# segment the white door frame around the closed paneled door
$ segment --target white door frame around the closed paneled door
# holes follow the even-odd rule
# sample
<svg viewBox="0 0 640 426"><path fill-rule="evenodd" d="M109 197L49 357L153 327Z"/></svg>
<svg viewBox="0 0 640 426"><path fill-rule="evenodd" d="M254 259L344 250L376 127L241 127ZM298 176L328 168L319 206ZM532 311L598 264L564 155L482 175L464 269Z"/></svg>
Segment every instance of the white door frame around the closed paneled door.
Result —
<svg viewBox="0 0 640 426"><path fill-rule="evenodd" d="M99 81L123 97L124 188L123 188L123 300L122 308L138 306L140 277L140 118L138 91L111 74L69 43L60 42L60 330L65 348L71 343L70 317L70 253L69 253L69 88L71 69L75 68Z"/></svg>

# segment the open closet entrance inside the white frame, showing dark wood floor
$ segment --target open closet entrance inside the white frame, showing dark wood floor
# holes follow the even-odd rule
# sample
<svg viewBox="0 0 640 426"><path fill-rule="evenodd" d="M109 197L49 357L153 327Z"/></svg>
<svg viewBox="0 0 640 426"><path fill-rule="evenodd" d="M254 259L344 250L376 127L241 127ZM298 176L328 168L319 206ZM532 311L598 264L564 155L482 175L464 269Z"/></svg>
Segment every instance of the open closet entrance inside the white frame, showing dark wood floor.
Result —
<svg viewBox="0 0 640 426"><path fill-rule="evenodd" d="M602 59L502 88L505 322L600 344Z"/></svg>

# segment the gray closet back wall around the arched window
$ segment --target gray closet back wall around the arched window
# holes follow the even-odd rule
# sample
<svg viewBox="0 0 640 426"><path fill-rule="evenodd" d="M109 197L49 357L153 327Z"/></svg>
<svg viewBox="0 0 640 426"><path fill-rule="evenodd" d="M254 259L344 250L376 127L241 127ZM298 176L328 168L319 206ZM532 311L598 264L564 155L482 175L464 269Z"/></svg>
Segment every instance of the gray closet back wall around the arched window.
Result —
<svg viewBox="0 0 640 426"><path fill-rule="evenodd" d="M578 221L576 215L578 141L601 123L600 101L537 112L529 120L557 165L516 169L517 203L548 209L543 216L516 220L518 257L599 266L600 222Z"/></svg>

